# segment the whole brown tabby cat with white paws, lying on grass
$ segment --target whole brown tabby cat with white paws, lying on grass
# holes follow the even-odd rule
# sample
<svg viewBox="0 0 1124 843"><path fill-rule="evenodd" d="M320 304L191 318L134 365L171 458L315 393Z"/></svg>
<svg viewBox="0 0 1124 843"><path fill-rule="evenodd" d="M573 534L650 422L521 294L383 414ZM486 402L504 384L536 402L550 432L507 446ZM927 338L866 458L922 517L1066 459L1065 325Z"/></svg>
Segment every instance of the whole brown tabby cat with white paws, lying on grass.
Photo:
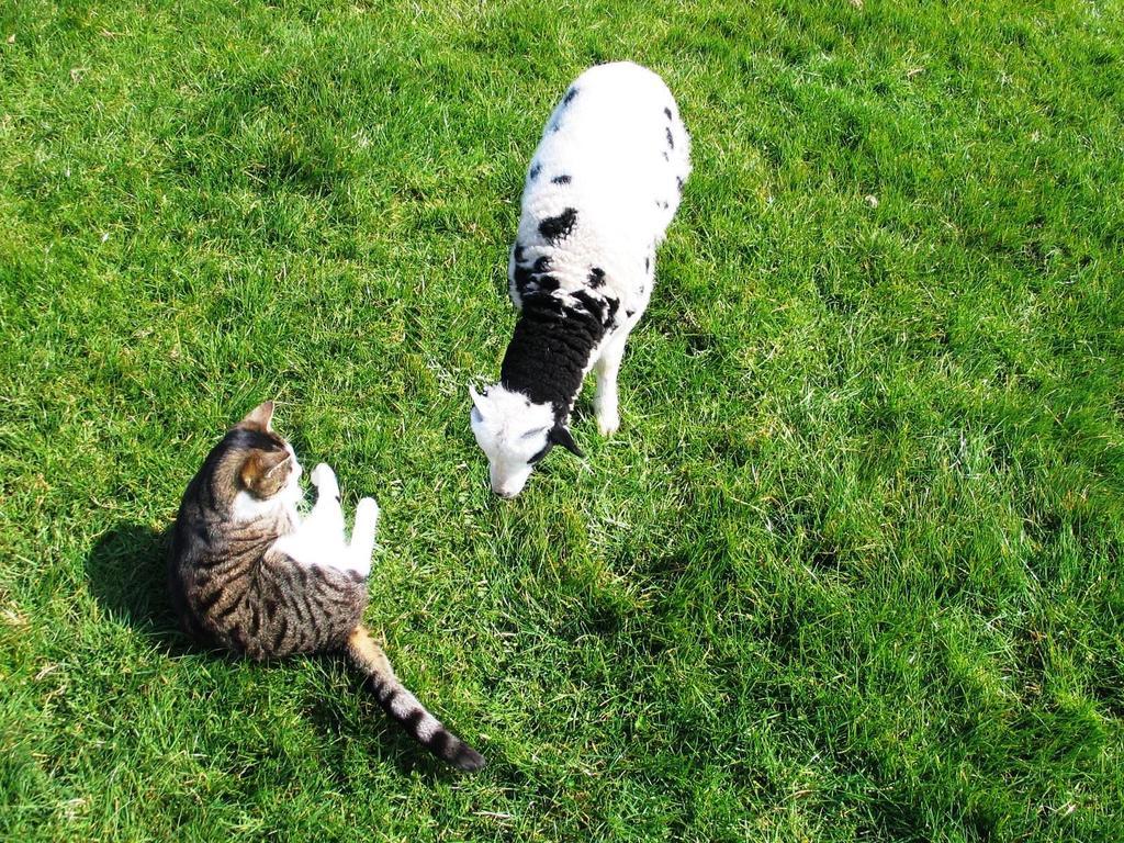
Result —
<svg viewBox="0 0 1124 843"><path fill-rule="evenodd" d="M266 401L207 455L175 519L169 582L184 629L252 659L343 650L382 708L420 744L462 770L484 760L395 677L363 626L379 507L363 498L348 543L339 486L312 470L316 505L301 516L301 468L271 428Z"/></svg>

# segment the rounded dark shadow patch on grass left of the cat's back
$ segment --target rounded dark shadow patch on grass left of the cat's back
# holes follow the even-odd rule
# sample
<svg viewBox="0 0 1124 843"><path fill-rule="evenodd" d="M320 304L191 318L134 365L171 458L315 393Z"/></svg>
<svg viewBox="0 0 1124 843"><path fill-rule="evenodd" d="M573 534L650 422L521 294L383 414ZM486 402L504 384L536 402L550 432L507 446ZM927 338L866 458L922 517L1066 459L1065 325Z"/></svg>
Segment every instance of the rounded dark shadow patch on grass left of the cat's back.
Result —
<svg viewBox="0 0 1124 843"><path fill-rule="evenodd" d="M85 561L90 592L112 617L173 652L192 650L167 592L171 529L120 524L98 538Z"/></svg>

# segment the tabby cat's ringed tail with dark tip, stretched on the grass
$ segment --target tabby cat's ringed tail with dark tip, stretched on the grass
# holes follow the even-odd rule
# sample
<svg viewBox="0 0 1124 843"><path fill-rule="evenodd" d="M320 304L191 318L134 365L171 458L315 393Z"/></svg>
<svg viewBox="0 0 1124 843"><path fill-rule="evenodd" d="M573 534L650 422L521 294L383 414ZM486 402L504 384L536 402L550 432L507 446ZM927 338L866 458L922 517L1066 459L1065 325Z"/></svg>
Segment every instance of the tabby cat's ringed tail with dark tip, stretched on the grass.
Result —
<svg viewBox="0 0 1124 843"><path fill-rule="evenodd" d="M441 720L418 703L390 667L390 660L362 624L347 638L347 655L366 676L382 709L401 724L410 736L439 759L462 770L479 770L483 756L441 725Z"/></svg>

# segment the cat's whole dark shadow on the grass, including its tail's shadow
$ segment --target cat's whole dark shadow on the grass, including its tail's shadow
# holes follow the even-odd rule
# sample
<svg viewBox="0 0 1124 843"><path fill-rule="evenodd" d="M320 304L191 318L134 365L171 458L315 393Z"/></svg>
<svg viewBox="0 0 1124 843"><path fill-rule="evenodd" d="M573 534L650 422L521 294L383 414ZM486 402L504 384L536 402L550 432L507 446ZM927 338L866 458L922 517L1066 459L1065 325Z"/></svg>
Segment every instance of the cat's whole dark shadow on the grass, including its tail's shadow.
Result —
<svg viewBox="0 0 1124 843"><path fill-rule="evenodd" d="M171 533L171 527L156 531L143 524L121 524L102 534L85 562L91 595L106 614L143 633L169 655L238 661L238 655L199 645L181 631L167 589ZM259 668L263 671L283 669L284 664L296 664L301 658L323 659L330 670L347 674L356 696L369 695L357 671L343 655L293 656L265 662ZM407 737L373 698L364 700L359 719L327 694L316 700L306 715L312 727L329 741L350 735L352 740L378 744L380 754L402 774L422 776L434 782L459 774Z"/></svg>

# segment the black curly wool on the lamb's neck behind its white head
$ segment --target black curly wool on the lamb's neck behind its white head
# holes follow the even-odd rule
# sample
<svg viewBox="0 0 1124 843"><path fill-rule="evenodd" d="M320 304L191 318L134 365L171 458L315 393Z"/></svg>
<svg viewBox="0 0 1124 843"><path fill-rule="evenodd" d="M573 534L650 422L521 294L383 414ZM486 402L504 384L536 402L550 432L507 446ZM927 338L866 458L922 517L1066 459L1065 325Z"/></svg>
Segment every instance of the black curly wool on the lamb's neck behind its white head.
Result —
<svg viewBox="0 0 1124 843"><path fill-rule="evenodd" d="M564 422L581 389L589 355L605 336L597 315L536 292L523 299L523 312L507 346L500 382L536 404L554 406L554 419Z"/></svg>

